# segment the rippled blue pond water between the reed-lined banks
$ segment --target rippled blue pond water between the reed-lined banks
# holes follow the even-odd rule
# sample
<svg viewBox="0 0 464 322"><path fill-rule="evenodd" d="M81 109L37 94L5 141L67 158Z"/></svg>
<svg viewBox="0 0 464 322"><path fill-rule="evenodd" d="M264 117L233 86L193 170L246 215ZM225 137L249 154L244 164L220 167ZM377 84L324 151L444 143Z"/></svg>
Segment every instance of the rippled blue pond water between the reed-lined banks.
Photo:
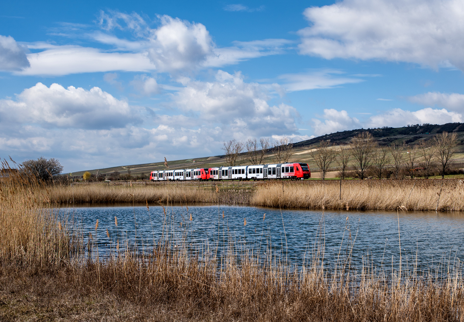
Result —
<svg viewBox="0 0 464 322"><path fill-rule="evenodd" d="M166 217L165 213L166 211ZM464 213L391 211L315 211L245 206L112 205L62 208L84 233L95 234L98 219L98 247L104 251L116 238L145 246L153 245L168 232L174 243L187 232L188 243L218 245L232 240L236 245L268 245L300 261L318 242L325 245L330 260L346 254L352 245L355 263L369 254L372 262L388 266L416 260L419 270L430 269L440 260L464 260ZM264 218L265 213L265 218ZM192 221L190 221L190 214ZM224 218L223 218L224 214ZM118 226L115 226L115 216ZM347 219L348 217L348 219ZM246 219L246 225L244 225ZM182 223L182 224L181 224ZM106 229L110 238L106 235ZM400 231L400 239L399 239ZM137 237L136 237L137 236ZM176 241L177 240L177 241ZM189 244L188 244L189 245Z"/></svg>

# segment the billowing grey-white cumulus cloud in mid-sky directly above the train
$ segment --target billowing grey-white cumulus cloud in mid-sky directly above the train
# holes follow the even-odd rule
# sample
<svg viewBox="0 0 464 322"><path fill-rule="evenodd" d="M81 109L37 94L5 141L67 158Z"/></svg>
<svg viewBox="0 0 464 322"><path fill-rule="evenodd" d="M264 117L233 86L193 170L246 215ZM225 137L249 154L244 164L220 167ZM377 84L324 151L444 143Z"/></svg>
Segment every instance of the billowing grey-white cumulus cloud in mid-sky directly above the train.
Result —
<svg viewBox="0 0 464 322"><path fill-rule="evenodd" d="M263 85L245 83L240 73L220 70L215 81L190 81L174 96L182 112L198 116L200 123L219 124L240 139L296 132L296 109L286 104L270 106L270 99Z"/></svg>

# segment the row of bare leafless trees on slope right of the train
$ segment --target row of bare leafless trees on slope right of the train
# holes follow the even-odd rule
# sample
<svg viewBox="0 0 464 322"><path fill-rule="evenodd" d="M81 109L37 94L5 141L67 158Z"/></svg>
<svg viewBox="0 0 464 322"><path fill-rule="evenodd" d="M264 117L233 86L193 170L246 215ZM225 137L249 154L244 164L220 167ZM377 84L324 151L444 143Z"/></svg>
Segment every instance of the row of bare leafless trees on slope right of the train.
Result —
<svg viewBox="0 0 464 322"><path fill-rule="evenodd" d="M322 180L325 180L334 164L340 171L341 179L345 179L348 170L354 171L361 180L367 174L374 174L379 179L391 175L395 179L403 179L405 175L412 179L416 173L426 179L439 174L443 179L450 169L456 139L456 133L442 132L417 145L393 143L391 146L379 146L366 131L354 136L347 146L338 148L322 140L317 148L311 150L310 155L321 171Z"/></svg>

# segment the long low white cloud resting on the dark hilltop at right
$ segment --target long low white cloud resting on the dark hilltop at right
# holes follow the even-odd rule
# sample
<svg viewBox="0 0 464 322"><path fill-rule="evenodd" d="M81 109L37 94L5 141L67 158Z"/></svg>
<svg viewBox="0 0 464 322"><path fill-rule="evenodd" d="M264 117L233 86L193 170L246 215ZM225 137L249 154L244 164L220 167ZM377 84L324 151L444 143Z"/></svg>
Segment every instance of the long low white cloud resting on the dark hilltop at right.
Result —
<svg viewBox="0 0 464 322"><path fill-rule="evenodd" d="M382 126L401 127L406 124L445 124L449 122L463 122L464 118L456 112L446 109L432 109L430 107L417 111L392 109L380 115L371 116L365 127L378 128Z"/></svg>

